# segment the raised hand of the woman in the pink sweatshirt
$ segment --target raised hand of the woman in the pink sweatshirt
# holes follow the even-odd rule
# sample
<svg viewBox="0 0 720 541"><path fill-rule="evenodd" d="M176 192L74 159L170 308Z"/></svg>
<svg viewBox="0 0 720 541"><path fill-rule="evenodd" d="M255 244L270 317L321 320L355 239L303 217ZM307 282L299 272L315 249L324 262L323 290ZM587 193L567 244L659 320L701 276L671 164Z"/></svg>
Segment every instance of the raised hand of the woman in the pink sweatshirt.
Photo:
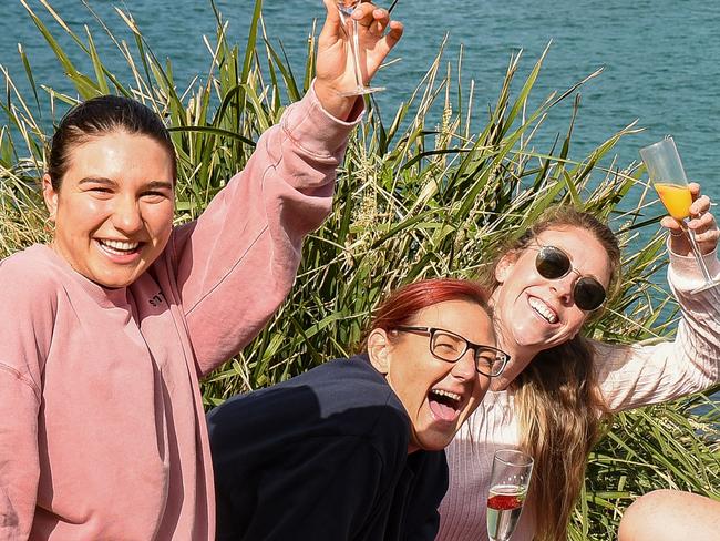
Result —
<svg viewBox="0 0 720 541"><path fill-rule="evenodd" d="M350 37L342 25L336 0L323 0L327 17L318 41L315 91L322 106L338 119L347 119L357 96L343 96L357 86ZM363 83L368 84L390 50L402 37L402 23L391 21L388 10L363 2L354 10L358 21L358 58Z"/></svg>

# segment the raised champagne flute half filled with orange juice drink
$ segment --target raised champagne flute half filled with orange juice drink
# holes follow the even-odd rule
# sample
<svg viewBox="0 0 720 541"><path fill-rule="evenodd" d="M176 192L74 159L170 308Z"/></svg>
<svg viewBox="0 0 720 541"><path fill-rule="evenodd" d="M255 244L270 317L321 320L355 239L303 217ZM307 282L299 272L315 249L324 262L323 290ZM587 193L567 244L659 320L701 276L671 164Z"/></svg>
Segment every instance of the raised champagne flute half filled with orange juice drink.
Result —
<svg viewBox="0 0 720 541"><path fill-rule="evenodd" d="M688 177L685 174L680 154L675 145L675 141L669 135L662 141L640 149L640 156L645 166L648 169L650 182L658 192L660 201L675 220L680 223L680 226L690 239L690 247L692 254L702 272L704 284L695 292L701 292L709 287L714 287L719 282L713 280L708 272L708 267L702 258L702 253L698 247L695 238L695 233L688 228L688 218L690 216L690 205L692 204L692 195L688 186Z"/></svg>

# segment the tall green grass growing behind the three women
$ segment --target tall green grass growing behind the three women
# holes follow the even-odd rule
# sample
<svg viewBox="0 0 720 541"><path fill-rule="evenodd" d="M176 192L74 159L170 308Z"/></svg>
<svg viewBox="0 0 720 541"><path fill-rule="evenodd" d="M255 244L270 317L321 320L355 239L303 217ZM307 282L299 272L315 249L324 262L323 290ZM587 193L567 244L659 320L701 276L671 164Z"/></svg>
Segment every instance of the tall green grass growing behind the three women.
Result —
<svg viewBox="0 0 720 541"><path fill-rule="evenodd" d="M265 31L260 0L239 45L209 4L217 31L207 38L212 54L202 74L205 82L198 79L183 89L172 63L153 54L131 13L116 10L117 28L99 20L127 65L130 76L121 79L103 61L90 31L75 33L45 0L40 3L41 13L25 4L28 16L74 93L43 85L22 50L24 73L12 76L27 78L30 91L18 91L3 70L0 256L47 242L51 234L38 192L51 135L39 119L41 109L56 119L78 99L107 92L154 109L172 126L178 153L176 221L182 223L196 217L245 165L259 134L312 79L315 39L308 41L302 73L294 73L282 48ZM54 22L43 22L48 19ZM69 39L73 58L82 60L71 61L58 35ZM578 90L598 73L531 106L544 59L545 53L535 61L513 55L487 110L474 104L473 83L461 80L462 58L445 61L442 49L391 115L381 116L368 102L367 121L352 135L339 171L332 214L307 241L287 303L240 355L205 381L208 406L350 354L383 293L420 277L474 276L484 254L557 202L607 220L626 247L637 246L640 232L652 237L640 249L626 249L620 295L588 333L611 341L672 333L675 303L654 283L666 264L664 242L647 233L656 232L662 211L648 198L640 172L614 157L616 143L637 129L607 134L587 156L573 157ZM521 62L533 68L518 80ZM543 147L535 141L562 101L574 104L567 130ZM440 120L431 121L435 118ZM479 123L483 127L473 130ZM628 194L639 203L628 205ZM617 416L590 457L570 539L614 539L624 507L652 488L719 498L719 426L720 410L702 395Z"/></svg>

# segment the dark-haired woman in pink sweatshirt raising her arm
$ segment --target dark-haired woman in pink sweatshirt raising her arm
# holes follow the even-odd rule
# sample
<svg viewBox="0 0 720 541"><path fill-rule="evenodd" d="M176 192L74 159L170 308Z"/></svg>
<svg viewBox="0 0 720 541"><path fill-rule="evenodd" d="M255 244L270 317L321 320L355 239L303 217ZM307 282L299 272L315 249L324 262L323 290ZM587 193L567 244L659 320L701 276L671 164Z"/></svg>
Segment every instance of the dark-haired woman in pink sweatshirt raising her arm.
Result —
<svg viewBox="0 0 720 541"><path fill-rule="evenodd" d="M103 96L62 120L52 243L0 262L1 540L214 539L198 379L285 298L362 110L325 3L311 90L195 222L173 227L175 151L152 111ZM402 27L369 3L353 18L369 80Z"/></svg>

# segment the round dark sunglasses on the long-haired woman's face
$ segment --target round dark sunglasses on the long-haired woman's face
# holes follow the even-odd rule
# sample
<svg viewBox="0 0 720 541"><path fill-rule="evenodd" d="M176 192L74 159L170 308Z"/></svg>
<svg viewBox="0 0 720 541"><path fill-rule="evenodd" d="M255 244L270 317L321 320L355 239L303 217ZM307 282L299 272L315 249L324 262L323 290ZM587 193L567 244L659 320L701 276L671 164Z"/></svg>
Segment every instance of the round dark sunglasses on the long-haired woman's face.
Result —
<svg viewBox="0 0 720 541"><path fill-rule="evenodd" d="M582 310L596 310L603 306L607 298L603 284L596 278L584 276L573 268L570 257L557 246L539 245L535 257L535 268L543 278L547 279L560 279L570 273L577 274L578 279L575 282L575 287L573 287L573 299Z"/></svg>

